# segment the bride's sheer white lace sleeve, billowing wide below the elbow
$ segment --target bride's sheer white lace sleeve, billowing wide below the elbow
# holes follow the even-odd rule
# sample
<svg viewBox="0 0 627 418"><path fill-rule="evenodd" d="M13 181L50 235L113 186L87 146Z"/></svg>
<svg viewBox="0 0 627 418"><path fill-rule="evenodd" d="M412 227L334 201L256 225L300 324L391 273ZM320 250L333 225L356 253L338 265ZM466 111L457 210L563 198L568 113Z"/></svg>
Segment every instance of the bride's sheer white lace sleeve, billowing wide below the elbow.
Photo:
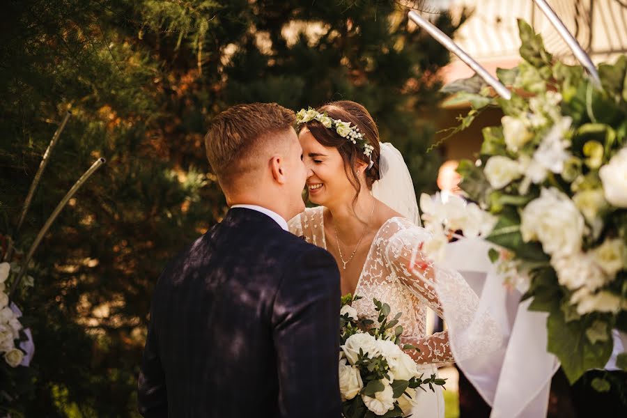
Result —
<svg viewBox="0 0 627 418"><path fill-rule="evenodd" d="M420 363L452 362L492 353L502 346L502 332L467 281L455 270L428 261L420 249L431 236L410 226L392 237L387 259L398 280L447 323L447 331L410 337L421 350Z"/></svg>

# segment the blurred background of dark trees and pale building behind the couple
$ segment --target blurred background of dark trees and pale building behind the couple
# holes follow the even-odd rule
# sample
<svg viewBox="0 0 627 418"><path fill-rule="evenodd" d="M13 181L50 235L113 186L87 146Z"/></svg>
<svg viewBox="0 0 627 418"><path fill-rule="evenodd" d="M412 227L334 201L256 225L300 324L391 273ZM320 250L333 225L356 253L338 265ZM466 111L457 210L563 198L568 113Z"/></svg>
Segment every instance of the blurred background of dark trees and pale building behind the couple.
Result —
<svg viewBox="0 0 627 418"><path fill-rule="evenodd" d="M594 61L627 51L623 1L550 3ZM439 89L472 74L408 22L405 6L425 10L492 72L518 63L516 17L572 61L531 0L4 2L0 251L12 236L19 261L77 178L107 159L45 236L29 270L33 286L16 297L36 355L12 416L138 416L153 286L168 258L226 212L203 136L212 116L232 104L297 110L361 102L382 141L403 153L417 194L455 187L456 162L473 157L481 127L501 115L487 110L440 144L446 132L438 131L470 107L442 106ZM18 235L29 185L67 111ZM447 415L454 417L457 377L450 376Z"/></svg>

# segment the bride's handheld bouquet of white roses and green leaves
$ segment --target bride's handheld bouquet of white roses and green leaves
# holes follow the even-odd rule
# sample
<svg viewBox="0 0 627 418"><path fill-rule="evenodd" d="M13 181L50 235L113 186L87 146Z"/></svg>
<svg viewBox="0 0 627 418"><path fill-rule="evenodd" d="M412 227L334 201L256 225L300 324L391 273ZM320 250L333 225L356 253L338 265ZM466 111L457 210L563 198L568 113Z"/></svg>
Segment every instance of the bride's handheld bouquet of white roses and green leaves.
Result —
<svg viewBox="0 0 627 418"><path fill-rule="evenodd" d="M388 304L373 300L379 315L377 323L357 317L350 302L353 295L342 298L340 318L341 351L339 355L339 384L342 412L346 418L407 417L415 403L417 389L428 385L443 386L444 379L435 374L423 379L417 365L401 348L399 337L403 327L398 324L401 313L388 320Z"/></svg>

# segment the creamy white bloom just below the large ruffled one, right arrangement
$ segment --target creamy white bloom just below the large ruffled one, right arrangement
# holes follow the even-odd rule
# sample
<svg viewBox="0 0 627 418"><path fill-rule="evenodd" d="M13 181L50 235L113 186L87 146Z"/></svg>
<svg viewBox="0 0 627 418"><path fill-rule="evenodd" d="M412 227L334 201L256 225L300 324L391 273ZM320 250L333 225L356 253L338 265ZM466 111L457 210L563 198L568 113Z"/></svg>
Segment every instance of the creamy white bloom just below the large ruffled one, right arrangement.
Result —
<svg viewBox="0 0 627 418"><path fill-rule="evenodd" d="M607 276L589 253L558 254L551 257L551 265L559 284L571 291L582 286L594 291L607 283Z"/></svg>

